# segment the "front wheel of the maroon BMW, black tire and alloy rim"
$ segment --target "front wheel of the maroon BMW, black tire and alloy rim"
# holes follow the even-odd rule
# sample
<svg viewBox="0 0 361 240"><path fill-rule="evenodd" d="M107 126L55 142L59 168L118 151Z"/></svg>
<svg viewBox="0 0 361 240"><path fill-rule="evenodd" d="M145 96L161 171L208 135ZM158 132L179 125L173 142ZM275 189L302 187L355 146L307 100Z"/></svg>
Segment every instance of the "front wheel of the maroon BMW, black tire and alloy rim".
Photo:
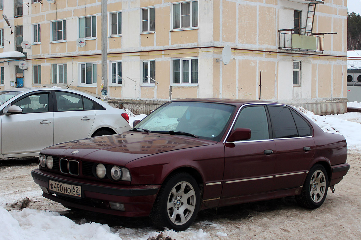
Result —
<svg viewBox="0 0 361 240"><path fill-rule="evenodd" d="M161 187L153 205L151 219L156 227L184 231L197 216L200 190L188 173L170 176Z"/></svg>

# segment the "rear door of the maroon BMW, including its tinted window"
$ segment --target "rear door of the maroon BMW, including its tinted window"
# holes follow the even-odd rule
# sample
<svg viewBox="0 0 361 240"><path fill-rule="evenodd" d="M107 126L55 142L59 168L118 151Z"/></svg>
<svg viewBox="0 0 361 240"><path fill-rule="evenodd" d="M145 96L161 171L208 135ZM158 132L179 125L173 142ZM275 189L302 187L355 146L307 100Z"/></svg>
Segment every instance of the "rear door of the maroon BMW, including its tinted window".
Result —
<svg viewBox="0 0 361 240"><path fill-rule="evenodd" d="M268 109L277 149L274 190L300 187L314 155L312 128L289 107L269 105Z"/></svg>

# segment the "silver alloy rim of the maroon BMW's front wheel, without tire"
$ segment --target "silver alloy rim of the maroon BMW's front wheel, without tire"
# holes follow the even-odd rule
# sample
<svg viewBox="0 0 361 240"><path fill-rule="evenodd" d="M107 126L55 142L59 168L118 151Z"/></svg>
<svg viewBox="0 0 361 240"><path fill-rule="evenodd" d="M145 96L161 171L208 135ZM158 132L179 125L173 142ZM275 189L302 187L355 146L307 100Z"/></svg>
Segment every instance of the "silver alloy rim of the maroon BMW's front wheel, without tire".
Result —
<svg viewBox="0 0 361 240"><path fill-rule="evenodd" d="M183 225L194 213L196 194L189 182L178 182L168 196L168 217L175 225Z"/></svg>

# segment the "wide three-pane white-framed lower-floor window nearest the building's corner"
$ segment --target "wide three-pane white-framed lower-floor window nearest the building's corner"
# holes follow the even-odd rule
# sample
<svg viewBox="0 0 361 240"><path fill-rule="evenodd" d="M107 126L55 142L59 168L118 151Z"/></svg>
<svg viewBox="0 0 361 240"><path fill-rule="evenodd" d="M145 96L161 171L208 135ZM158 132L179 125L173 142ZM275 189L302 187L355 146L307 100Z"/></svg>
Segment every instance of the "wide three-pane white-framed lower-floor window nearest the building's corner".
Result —
<svg viewBox="0 0 361 240"><path fill-rule="evenodd" d="M173 85L198 85L198 58L172 59Z"/></svg>

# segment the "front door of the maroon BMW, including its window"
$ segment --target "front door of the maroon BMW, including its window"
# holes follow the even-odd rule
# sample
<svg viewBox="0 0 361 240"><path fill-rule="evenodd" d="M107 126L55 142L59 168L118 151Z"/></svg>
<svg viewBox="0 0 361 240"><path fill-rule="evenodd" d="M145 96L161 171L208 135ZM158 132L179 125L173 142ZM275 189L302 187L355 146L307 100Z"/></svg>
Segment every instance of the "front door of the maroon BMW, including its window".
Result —
<svg viewBox="0 0 361 240"><path fill-rule="evenodd" d="M273 187L276 148L265 106L244 107L233 129L239 127L251 129L251 139L225 143L223 199L265 193Z"/></svg>

